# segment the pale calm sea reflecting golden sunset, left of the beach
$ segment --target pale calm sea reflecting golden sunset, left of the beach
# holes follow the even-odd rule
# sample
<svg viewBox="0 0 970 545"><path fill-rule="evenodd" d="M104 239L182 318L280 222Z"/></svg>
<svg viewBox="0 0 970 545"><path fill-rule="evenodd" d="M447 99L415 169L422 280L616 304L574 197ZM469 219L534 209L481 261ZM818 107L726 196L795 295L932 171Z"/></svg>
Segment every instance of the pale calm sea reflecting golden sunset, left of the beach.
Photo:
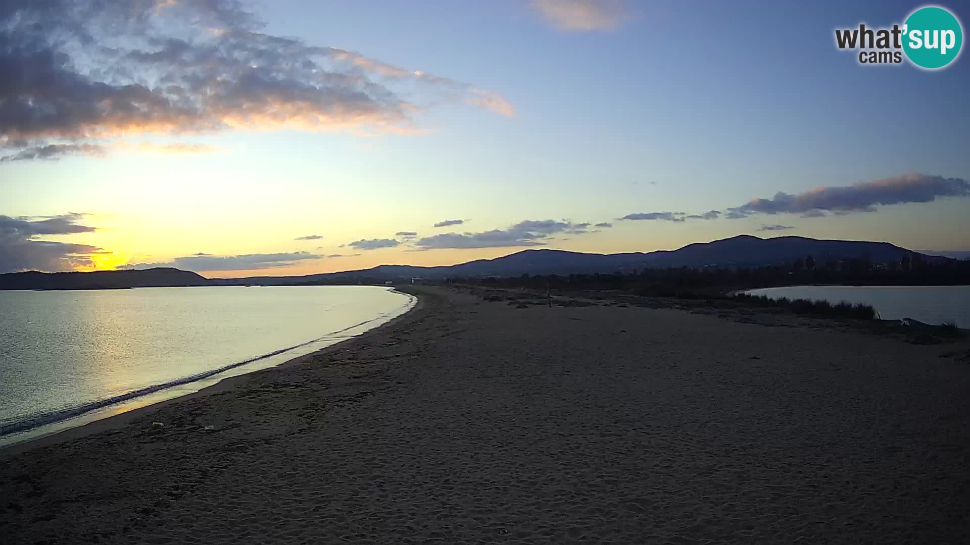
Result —
<svg viewBox="0 0 970 545"><path fill-rule="evenodd" d="M278 365L414 301L374 286L0 292L0 444Z"/></svg>

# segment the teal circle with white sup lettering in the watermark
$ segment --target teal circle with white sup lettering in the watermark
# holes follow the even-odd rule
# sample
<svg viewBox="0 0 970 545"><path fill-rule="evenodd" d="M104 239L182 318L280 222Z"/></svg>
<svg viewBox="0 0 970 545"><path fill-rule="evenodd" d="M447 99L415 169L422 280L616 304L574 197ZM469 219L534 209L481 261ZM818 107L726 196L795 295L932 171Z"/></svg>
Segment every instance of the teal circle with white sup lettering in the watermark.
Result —
<svg viewBox="0 0 970 545"><path fill-rule="evenodd" d="M928 70L947 66L963 46L963 27L949 11L927 6L903 23L903 50L913 64Z"/></svg>

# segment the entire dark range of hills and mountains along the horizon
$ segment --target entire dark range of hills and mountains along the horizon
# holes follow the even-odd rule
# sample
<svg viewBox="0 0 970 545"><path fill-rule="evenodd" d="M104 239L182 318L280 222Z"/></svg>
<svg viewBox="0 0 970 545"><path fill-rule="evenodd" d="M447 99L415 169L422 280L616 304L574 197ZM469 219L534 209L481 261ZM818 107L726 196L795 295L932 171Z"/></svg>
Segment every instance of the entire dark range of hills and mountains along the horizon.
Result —
<svg viewBox="0 0 970 545"><path fill-rule="evenodd" d="M695 242L676 250L597 254L552 249L528 249L495 259L479 259L442 267L379 265L360 271L327 272L304 276L249 276L205 278L177 269L101 272L9 272L0 274L0 290L11 289L108 289L149 286L281 285L300 283L349 283L420 277L518 276L521 274L570 274L632 272L645 268L755 267L781 265L811 255L816 263L831 259L865 257L873 263L899 261L919 254L889 242L817 240L804 237L761 239L740 235L711 242ZM927 262L949 258L919 254Z"/></svg>

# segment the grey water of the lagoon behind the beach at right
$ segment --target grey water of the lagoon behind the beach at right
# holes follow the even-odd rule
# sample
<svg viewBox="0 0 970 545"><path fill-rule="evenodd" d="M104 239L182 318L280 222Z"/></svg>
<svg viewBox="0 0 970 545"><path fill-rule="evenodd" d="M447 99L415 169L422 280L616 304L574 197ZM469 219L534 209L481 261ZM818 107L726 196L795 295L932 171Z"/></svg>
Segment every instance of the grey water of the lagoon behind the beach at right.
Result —
<svg viewBox="0 0 970 545"><path fill-rule="evenodd" d="M913 318L970 328L970 286L791 286L747 293L772 298L848 301L872 305L884 320Z"/></svg>

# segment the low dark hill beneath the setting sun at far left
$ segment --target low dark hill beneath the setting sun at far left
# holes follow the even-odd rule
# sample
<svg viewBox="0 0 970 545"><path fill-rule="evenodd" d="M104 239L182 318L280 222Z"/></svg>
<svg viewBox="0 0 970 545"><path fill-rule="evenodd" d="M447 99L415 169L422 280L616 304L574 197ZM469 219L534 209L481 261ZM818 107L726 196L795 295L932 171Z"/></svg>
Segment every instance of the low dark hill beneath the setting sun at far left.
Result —
<svg viewBox="0 0 970 545"><path fill-rule="evenodd" d="M171 268L145 271L31 271L0 274L0 290L98 290L209 284L208 279L195 272Z"/></svg>

